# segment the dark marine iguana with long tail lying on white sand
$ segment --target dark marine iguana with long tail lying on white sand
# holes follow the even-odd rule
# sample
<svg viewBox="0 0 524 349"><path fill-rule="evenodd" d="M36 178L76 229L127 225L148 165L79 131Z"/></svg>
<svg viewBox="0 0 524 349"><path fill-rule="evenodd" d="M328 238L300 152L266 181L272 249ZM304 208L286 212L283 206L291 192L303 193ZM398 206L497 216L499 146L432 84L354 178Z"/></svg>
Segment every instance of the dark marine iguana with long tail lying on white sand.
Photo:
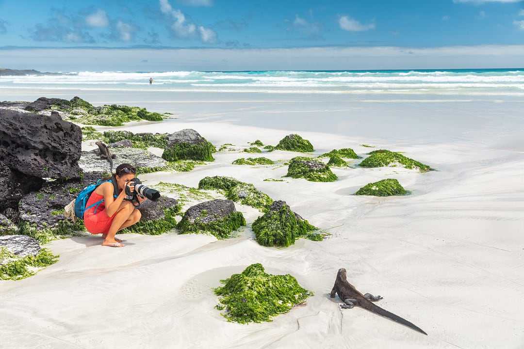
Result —
<svg viewBox="0 0 524 349"><path fill-rule="evenodd" d="M355 286L347 282L346 269L344 268L340 268L339 272L336 274L335 285L331 290L330 297L334 298L335 294L338 294L340 299L344 301L344 304L340 305L340 307L343 309L351 309L354 306L360 306L366 310L369 310L370 312L374 312L375 314L405 325L410 329L428 335L408 320L402 319L401 317L396 316L394 313L390 313L389 311L374 305L372 302L377 302L380 299L383 299L383 297L375 297L370 293L366 293L364 295L361 294L361 292L357 291Z"/></svg>

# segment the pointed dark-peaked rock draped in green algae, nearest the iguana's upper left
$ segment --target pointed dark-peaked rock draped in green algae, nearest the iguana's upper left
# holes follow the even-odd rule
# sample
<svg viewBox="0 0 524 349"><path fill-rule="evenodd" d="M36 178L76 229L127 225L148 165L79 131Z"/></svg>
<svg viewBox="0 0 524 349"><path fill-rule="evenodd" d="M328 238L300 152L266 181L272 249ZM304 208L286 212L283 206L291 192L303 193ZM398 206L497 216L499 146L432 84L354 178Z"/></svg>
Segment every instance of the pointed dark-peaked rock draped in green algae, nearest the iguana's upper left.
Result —
<svg viewBox="0 0 524 349"><path fill-rule="evenodd" d="M321 234L313 233L318 228L291 211L286 202L281 200L274 201L269 211L253 222L252 229L257 242L264 246L287 247L299 238L322 240Z"/></svg>

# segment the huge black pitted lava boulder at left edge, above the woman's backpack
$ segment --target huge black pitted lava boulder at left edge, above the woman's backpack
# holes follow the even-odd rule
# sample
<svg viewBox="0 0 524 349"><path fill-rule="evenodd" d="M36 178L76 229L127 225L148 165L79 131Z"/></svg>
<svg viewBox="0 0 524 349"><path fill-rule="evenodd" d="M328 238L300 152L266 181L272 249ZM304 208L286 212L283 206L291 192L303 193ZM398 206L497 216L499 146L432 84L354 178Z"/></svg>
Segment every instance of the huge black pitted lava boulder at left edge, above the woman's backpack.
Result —
<svg viewBox="0 0 524 349"><path fill-rule="evenodd" d="M0 161L41 178L79 177L80 127L54 116L0 109Z"/></svg>

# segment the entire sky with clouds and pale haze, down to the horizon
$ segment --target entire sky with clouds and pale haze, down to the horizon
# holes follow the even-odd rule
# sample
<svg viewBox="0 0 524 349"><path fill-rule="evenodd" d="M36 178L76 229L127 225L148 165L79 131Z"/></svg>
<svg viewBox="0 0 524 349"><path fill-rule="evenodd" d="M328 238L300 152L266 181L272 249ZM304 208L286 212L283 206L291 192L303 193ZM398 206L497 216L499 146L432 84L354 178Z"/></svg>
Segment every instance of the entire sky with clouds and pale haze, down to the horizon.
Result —
<svg viewBox="0 0 524 349"><path fill-rule="evenodd" d="M0 0L0 66L15 69L432 69L522 62L524 0Z"/></svg>

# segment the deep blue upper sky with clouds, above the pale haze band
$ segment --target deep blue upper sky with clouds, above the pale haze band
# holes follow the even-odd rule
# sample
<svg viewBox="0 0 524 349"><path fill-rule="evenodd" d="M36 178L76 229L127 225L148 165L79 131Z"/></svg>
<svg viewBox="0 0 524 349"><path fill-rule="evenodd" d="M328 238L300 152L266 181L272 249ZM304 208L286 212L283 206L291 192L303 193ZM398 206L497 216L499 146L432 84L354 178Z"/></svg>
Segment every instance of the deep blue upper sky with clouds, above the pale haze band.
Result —
<svg viewBox="0 0 524 349"><path fill-rule="evenodd" d="M0 0L0 46L524 44L515 0Z"/></svg>

